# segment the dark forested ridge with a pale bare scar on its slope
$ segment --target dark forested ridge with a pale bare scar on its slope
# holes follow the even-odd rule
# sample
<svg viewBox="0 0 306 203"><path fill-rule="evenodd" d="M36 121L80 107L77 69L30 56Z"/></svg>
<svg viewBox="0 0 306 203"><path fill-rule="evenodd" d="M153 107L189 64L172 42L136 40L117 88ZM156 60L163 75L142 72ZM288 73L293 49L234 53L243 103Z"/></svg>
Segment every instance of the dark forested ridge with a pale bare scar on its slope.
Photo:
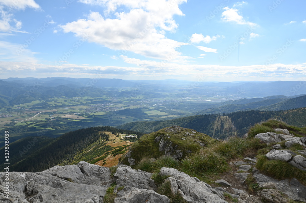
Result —
<svg viewBox="0 0 306 203"><path fill-rule="evenodd" d="M144 133L155 132L172 125L195 129L215 139L224 139L229 136L243 136L248 128L256 123L269 119L279 119L289 125L306 126L306 108L288 111L237 111L228 114L206 114L167 121L139 121L118 126L119 128L141 131Z"/></svg>

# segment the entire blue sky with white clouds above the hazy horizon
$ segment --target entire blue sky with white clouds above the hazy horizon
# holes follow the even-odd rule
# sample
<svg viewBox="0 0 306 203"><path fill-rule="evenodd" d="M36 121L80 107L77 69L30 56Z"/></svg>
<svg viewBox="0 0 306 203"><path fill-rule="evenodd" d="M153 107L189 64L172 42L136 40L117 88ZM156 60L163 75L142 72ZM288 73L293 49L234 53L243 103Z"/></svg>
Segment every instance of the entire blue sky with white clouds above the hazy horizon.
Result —
<svg viewBox="0 0 306 203"><path fill-rule="evenodd" d="M0 78L306 80L304 0L0 0Z"/></svg>

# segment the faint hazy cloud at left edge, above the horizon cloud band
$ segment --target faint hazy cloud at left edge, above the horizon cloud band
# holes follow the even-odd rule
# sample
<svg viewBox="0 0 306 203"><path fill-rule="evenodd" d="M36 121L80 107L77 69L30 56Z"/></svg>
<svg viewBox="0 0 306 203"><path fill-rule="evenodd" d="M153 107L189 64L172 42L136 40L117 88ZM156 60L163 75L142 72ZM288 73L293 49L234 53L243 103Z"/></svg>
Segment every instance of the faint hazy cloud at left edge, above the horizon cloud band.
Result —
<svg viewBox="0 0 306 203"><path fill-rule="evenodd" d="M0 41L0 60L36 63L34 54L36 53L26 49L24 45Z"/></svg>

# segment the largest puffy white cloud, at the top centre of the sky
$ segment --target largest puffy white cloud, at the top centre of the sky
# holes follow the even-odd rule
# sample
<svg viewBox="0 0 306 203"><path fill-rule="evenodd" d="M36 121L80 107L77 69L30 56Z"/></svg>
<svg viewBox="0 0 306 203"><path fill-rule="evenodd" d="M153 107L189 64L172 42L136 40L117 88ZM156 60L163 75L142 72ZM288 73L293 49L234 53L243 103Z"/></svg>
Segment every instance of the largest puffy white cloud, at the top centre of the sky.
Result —
<svg viewBox="0 0 306 203"><path fill-rule="evenodd" d="M60 26L65 33L73 32L78 37L86 37L114 50L131 51L143 56L167 59L186 58L176 49L184 42L165 37L165 31L174 32L177 24L174 15L184 15L179 5L186 0L168 2L166 0L81 0L86 4L104 5L107 12L116 11L125 5L128 12L114 13L114 18L103 17L98 12L91 12L86 19L79 19ZM171 6L169 6L169 4Z"/></svg>

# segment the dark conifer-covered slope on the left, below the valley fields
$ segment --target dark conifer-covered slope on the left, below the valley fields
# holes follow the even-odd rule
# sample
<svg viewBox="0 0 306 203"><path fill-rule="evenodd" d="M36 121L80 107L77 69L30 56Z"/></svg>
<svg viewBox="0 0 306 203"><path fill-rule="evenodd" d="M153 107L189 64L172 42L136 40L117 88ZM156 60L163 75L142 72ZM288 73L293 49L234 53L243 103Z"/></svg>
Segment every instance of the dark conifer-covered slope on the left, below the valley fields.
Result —
<svg viewBox="0 0 306 203"><path fill-rule="evenodd" d="M36 172L62 162L71 162L76 154L97 140L108 142L109 135L105 132L136 134L138 138L143 135L140 132L101 126L68 132L56 139L46 140L42 137L31 137L18 140L10 144L10 148L15 149L15 153L10 156L10 160L14 161L10 169L12 171ZM35 139L38 139L38 141ZM34 144L29 147L28 145L31 145L31 143ZM3 161L0 164L3 164Z"/></svg>

